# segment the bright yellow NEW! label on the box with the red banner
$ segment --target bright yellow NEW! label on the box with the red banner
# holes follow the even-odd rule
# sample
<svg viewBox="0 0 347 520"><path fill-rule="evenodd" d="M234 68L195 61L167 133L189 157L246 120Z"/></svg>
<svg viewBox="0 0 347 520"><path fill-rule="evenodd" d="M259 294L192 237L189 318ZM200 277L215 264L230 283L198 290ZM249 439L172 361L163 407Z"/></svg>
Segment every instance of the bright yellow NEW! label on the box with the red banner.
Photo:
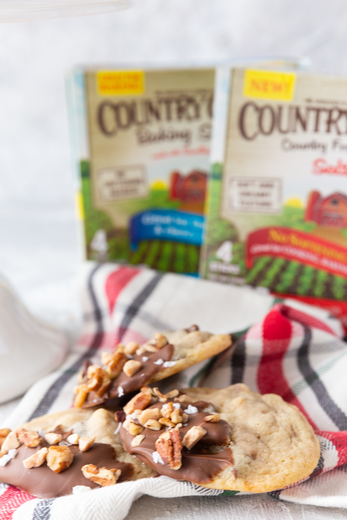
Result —
<svg viewBox="0 0 347 520"><path fill-rule="evenodd" d="M245 72L243 96L291 101L297 75L293 72L251 70Z"/></svg>

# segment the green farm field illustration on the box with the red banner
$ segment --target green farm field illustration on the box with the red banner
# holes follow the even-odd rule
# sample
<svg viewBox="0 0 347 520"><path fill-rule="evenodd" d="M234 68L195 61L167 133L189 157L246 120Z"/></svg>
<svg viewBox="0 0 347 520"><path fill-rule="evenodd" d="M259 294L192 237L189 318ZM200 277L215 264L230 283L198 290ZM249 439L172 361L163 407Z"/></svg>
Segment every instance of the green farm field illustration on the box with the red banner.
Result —
<svg viewBox="0 0 347 520"><path fill-rule="evenodd" d="M309 265L289 261L285 258L260 256L255 258L251 269L245 264L245 242L240 234L269 226L288 227L312 233L331 242L347 247L347 230L319 226L315 222L305 222L303 207L284 205L279 215L240 214L237 215L237 228L228 220L220 217L222 190L222 165L214 164L209 186L207 238L201 263L202 276L209 277L210 262L218 262L216 253L224 241L233 242L233 258L230 264L239 266L234 275L235 282L266 287L272 292L314 296L334 300L347 299L347 280L327 271ZM245 231L246 229L246 231ZM228 275L230 281L233 275ZM235 277L236 276L236 277Z"/></svg>

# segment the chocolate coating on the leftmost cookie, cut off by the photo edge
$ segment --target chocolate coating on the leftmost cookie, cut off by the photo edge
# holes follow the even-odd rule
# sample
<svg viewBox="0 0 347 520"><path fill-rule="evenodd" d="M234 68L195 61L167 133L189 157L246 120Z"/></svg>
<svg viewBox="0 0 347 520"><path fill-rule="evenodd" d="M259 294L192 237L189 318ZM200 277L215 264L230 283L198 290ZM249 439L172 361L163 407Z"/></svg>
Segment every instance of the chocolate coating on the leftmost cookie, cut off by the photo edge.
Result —
<svg viewBox="0 0 347 520"><path fill-rule="evenodd" d="M83 476L81 467L85 464L95 464L98 467L117 468L122 473L118 482L128 480L134 471L132 464L126 464L114 459L114 449L109 444L95 443L88 451L80 451L78 446L70 446L74 458L70 467L61 473L54 473L44 462L39 467L27 470L23 460L46 446L43 441L37 448L27 448L21 445L17 456L6 466L0 467L0 482L12 484L38 498L54 498L70 495L74 486L100 487Z"/></svg>

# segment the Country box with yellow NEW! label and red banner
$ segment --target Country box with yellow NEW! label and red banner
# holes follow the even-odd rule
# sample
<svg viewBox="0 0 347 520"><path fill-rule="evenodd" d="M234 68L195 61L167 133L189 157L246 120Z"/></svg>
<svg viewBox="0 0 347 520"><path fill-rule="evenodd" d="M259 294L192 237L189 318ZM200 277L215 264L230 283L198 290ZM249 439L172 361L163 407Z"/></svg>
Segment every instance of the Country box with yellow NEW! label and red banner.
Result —
<svg viewBox="0 0 347 520"><path fill-rule="evenodd" d="M325 307L347 325L347 79L217 73L200 272Z"/></svg>

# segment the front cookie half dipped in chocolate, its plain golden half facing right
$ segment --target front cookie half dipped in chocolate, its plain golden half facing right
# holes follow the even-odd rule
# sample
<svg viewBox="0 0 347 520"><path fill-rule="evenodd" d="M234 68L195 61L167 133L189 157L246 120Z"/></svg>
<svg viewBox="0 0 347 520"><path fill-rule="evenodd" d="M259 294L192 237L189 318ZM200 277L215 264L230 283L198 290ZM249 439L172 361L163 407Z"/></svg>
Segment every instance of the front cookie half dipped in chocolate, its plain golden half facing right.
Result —
<svg viewBox="0 0 347 520"><path fill-rule="evenodd" d="M256 493L309 476L320 455L297 407L244 384L166 395L142 388L124 407L120 438L128 453L160 474Z"/></svg>

